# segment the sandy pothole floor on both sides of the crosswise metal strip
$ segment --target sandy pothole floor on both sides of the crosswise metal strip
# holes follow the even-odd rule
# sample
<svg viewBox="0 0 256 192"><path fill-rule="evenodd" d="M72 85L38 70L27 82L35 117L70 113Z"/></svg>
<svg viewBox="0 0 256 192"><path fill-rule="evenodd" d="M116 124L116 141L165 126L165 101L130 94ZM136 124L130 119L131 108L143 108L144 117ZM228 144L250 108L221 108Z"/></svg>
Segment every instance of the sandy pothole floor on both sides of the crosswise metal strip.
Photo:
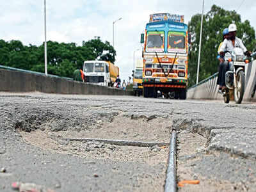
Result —
<svg viewBox="0 0 256 192"><path fill-rule="evenodd" d="M116 116L112 122L97 120L94 129L83 131L51 131L49 127L20 134L27 143L63 154L115 161L138 161L148 164L166 164L168 145L131 147L111 145L100 141L69 141L64 139L98 138L104 140L170 142L170 120L165 118ZM42 125L42 124L41 124Z"/></svg>

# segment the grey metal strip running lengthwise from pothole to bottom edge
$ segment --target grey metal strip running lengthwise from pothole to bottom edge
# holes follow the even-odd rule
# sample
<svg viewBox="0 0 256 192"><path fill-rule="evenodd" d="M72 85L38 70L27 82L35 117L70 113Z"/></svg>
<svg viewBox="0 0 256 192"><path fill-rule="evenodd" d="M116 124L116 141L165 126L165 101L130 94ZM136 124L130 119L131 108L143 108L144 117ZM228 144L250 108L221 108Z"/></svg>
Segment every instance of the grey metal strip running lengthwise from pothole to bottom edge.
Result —
<svg viewBox="0 0 256 192"><path fill-rule="evenodd" d="M166 180L164 192L177 191L177 177L176 177L176 131L172 131L172 138L170 142L170 152L168 160L168 168L166 172Z"/></svg>

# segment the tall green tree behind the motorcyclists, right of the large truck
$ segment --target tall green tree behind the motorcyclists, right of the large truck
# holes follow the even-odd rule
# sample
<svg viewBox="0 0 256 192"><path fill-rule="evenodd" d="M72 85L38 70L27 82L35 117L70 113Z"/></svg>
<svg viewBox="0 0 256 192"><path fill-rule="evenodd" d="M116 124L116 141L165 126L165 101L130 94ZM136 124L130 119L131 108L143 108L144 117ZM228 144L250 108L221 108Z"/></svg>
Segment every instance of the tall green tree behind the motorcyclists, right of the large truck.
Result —
<svg viewBox="0 0 256 192"><path fill-rule="evenodd" d="M241 38L246 48L250 51L255 49L255 30L250 22L241 22L241 16L235 11L227 11L213 5L211 10L204 15L202 47L200 57L199 81L218 72L219 61L216 60L218 47L223 40L222 31L234 22L237 25L237 36ZM201 15L193 15L188 24L191 33L191 47L189 56L189 86L196 83L196 71L198 62L198 50L200 39Z"/></svg>

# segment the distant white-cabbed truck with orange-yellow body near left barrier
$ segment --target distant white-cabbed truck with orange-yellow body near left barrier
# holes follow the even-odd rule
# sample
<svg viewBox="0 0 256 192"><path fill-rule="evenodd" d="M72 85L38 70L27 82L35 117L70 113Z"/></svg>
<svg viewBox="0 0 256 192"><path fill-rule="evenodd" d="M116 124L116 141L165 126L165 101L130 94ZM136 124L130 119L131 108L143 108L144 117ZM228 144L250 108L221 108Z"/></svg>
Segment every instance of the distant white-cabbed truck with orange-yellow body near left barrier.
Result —
<svg viewBox="0 0 256 192"><path fill-rule="evenodd" d="M83 73L85 83L113 86L119 68L109 61L84 61Z"/></svg>

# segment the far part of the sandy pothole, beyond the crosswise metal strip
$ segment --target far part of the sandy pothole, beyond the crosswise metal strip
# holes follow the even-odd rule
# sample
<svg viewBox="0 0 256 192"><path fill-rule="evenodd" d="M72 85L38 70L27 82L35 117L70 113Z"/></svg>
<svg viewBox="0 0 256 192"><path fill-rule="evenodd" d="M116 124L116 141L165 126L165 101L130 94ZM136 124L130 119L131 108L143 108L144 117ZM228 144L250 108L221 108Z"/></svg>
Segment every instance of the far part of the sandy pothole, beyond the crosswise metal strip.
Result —
<svg viewBox="0 0 256 192"><path fill-rule="evenodd" d="M90 129L79 129L76 131L74 127L69 127L68 129L60 129L60 131L55 131L54 125L58 127L61 126L62 120L52 119L46 122L40 123L36 122L37 126L33 125L33 121L29 120L29 124L26 124L26 120L21 124L19 131L21 133L31 132L33 134L39 134L35 132L36 130L42 131L40 134L46 134L51 138L102 138L109 140L139 140L139 141L159 141L159 142L169 142L170 141L170 129L171 120L166 118L156 118L156 117L140 117L134 118L134 116L125 117L118 115L112 117L109 122L106 119L93 119L89 124L93 125ZM81 127L86 127L87 122L79 122L77 120L76 125L79 124ZM83 124L84 123L84 124ZM20 124L17 124L19 127ZM51 125L51 127L49 126ZM67 127L67 125L65 125ZM29 128L28 128L29 127ZM31 127L34 127L31 129ZM36 128L35 128L36 127ZM22 134L24 138L29 134Z"/></svg>

